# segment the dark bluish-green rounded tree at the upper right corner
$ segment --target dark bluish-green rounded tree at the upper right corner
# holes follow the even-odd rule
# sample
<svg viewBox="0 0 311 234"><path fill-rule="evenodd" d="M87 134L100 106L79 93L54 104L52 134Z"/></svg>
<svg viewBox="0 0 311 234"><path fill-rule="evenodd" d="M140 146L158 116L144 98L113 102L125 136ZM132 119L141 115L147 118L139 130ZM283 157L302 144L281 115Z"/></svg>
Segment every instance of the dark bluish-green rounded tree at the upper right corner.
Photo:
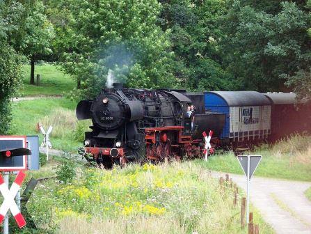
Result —
<svg viewBox="0 0 311 234"><path fill-rule="evenodd" d="M278 4L266 13L233 1L223 18L225 64L246 89L288 91L287 79L310 67L308 9L300 1Z"/></svg>

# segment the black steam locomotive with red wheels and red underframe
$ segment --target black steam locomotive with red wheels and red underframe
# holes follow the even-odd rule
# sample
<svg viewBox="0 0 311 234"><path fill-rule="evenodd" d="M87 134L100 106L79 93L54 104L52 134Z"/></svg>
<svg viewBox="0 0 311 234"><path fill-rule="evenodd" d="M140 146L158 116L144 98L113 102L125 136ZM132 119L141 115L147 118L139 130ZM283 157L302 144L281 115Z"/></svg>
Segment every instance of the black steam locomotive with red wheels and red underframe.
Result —
<svg viewBox="0 0 311 234"><path fill-rule="evenodd" d="M95 100L77 105L79 120L92 119L83 154L89 161L113 164L200 157L202 132L219 137L225 115L205 112L203 95L175 90L104 88Z"/></svg>

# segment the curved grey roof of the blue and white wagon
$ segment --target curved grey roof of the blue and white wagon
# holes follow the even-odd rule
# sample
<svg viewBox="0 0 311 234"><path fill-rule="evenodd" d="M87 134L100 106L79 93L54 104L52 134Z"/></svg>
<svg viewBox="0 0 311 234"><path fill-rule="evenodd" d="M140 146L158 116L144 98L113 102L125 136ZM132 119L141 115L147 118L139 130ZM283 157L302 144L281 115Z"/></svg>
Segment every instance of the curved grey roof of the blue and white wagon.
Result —
<svg viewBox="0 0 311 234"><path fill-rule="evenodd" d="M256 91L212 91L225 100L229 107L248 107L271 105L271 102L262 93Z"/></svg>

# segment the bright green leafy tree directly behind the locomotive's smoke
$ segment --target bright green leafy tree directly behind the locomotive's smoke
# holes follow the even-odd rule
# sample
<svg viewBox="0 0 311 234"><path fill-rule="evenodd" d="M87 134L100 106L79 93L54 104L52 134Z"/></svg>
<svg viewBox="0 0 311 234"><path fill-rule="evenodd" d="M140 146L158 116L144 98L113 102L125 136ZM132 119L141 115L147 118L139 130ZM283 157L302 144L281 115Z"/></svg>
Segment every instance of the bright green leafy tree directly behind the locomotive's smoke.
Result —
<svg viewBox="0 0 311 234"><path fill-rule="evenodd" d="M176 85L170 32L156 25L161 10L156 0L71 0L58 6L70 11L60 50L63 68L81 84L76 93L97 95L109 70L130 87Z"/></svg>

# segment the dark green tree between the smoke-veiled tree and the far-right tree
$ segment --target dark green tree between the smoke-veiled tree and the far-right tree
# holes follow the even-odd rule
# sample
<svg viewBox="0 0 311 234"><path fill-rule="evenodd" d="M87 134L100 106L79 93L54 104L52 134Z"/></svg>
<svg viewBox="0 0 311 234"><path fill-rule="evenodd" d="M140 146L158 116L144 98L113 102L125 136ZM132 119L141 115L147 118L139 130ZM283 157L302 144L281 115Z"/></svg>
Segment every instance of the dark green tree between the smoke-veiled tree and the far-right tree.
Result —
<svg viewBox="0 0 311 234"><path fill-rule="evenodd" d="M175 75L191 90L236 88L230 73L222 67L219 53L218 18L225 13L225 1L161 1L162 29L170 29L175 52Z"/></svg>

